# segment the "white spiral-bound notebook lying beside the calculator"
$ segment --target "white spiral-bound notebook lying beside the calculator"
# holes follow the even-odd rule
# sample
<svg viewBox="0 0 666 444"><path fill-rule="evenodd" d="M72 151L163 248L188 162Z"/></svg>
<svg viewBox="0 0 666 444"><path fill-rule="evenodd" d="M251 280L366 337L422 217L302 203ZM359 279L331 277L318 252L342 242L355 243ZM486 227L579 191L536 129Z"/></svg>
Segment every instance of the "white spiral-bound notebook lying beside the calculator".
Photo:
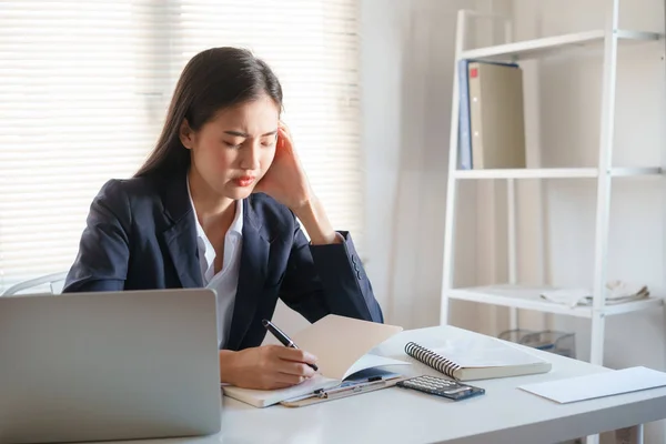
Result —
<svg viewBox="0 0 666 444"><path fill-rule="evenodd" d="M488 336L450 340L436 347L408 342L405 353L457 381L547 373L552 369L535 354Z"/></svg>

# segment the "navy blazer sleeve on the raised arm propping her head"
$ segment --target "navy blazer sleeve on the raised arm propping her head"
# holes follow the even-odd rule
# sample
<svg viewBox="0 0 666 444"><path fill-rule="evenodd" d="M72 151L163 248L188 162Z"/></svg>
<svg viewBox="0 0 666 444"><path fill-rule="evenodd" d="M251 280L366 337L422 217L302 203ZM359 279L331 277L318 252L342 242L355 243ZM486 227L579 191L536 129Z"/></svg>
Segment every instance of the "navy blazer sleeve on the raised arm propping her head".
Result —
<svg viewBox="0 0 666 444"><path fill-rule="evenodd" d="M294 220L295 222L295 220ZM280 297L307 321L339 314L384 322L372 284L349 232L343 242L311 245L297 222Z"/></svg>

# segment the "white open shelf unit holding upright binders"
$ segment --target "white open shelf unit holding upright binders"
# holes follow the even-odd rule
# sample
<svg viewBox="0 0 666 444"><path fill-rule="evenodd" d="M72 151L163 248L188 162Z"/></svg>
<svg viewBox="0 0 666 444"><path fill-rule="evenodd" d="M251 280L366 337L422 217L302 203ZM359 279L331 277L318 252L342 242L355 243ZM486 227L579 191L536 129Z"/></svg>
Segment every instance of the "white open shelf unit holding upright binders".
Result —
<svg viewBox="0 0 666 444"><path fill-rule="evenodd" d="M458 11L455 47L455 67L453 84L453 104L451 114L451 139L448 155L448 179L446 192L446 216L444 230L444 269L442 273L441 323L448 323L448 301L464 300L477 303L511 307L512 327L516 327L516 311L533 310L542 313L565 314L588 319L592 322L591 362L603 364L605 319L640 310L654 310L663 306L660 297L647 297L623 304L606 304L605 283L607 280L607 240L609 224L609 204L612 183L616 178L655 176L664 178L663 170L657 165L645 168L613 167L615 89L617 74L618 44L638 44L642 41L662 40L664 34L655 32L637 32L620 30L618 24L619 0L608 0L609 19L606 29L588 32L571 33L528 41L512 42L511 21L504 19L506 44L467 50L465 36L467 21L475 17L484 17L475 11ZM497 19L496 16L492 18ZM458 170L458 69L462 59L487 61L519 61L548 57L554 53L584 47L603 51L603 93L599 103L602 120L599 127L598 164L596 168L527 168L505 170ZM508 210L508 283L477 287L453 287L454 244L455 244L455 211L457 185L461 180L506 180ZM516 221L515 221L515 181L523 179L594 179L597 188L597 204L595 215L594 242L594 285L593 303L591 306L569 307L564 304L548 302L541 297L539 287L525 287L516 282ZM622 180L622 179L620 179Z"/></svg>

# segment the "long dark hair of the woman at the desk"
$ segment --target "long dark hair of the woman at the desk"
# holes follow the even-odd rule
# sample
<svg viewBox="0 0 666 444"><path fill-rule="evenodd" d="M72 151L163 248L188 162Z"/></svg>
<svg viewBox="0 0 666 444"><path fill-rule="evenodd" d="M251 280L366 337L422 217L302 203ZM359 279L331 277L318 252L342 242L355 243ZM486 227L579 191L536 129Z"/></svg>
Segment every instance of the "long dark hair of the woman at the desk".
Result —
<svg viewBox="0 0 666 444"><path fill-rule="evenodd" d="M278 77L250 51L212 48L188 62L175 85L155 148L134 176L168 176L190 167L190 152L180 141L184 119L193 131L223 108L268 94L282 109Z"/></svg>

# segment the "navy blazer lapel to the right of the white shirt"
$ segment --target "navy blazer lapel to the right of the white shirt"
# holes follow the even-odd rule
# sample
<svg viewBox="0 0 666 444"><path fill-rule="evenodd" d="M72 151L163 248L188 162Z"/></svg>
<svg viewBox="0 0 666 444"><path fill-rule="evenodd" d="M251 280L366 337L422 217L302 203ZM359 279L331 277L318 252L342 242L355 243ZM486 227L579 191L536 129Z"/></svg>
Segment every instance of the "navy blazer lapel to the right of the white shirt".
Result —
<svg viewBox="0 0 666 444"><path fill-rule="evenodd" d="M239 350L262 295L269 264L270 242L261 233L251 199L243 204L243 250L239 284L234 302L231 329L225 349Z"/></svg>

